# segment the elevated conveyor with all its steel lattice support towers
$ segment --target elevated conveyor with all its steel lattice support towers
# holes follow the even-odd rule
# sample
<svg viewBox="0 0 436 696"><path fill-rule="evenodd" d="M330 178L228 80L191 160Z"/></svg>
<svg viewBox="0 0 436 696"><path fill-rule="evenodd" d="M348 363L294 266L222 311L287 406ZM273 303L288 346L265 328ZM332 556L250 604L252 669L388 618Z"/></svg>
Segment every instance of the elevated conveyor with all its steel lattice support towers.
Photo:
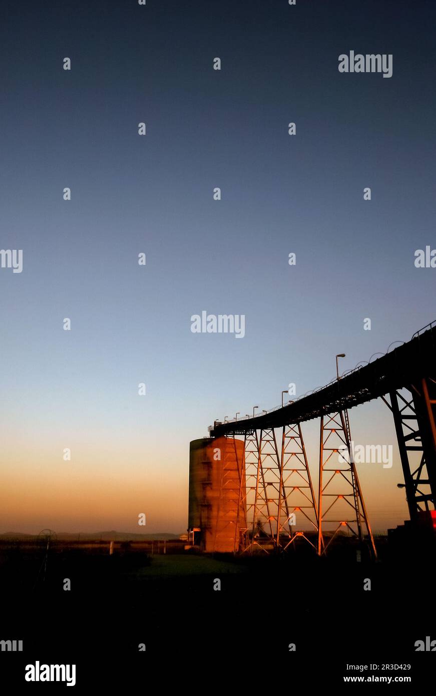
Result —
<svg viewBox="0 0 436 696"><path fill-rule="evenodd" d="M379 397L394 416L412 523L421 512L435 510L436 322L432 322L381 358L289 405L237 422L216 421L209 428L211 437L243 435L245 440L237 503L236 488L233 496L239 515L242 503L245 519L240 521L241 539L235 535L235 551L289 548L298 537L312 543L293 524L295 515L317 530L320 554L342 527L361 542L366 532L376 555L350 450L347 409ZM312 418L321 419L318 506L300 428L301 422ZM344 448L348 461L333 463L332 455ZM225 466L222 485L226 485ZM346 513L339 512L339 506L345 506ZM327 541L329 525L332 536Z"/></svg>

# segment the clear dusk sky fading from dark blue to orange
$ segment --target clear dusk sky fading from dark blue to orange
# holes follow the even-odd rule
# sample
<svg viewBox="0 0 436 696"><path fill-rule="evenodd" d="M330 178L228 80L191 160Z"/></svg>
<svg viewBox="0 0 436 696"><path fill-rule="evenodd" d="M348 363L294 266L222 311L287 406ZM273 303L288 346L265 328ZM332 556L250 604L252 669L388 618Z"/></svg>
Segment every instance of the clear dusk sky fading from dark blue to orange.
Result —
<svg viewBox="0 0 436 696"><path fill-rule="evenodd" d="M0 246L23 268L0 268L0 533L183 532L189 442L215 418L436 318L436 270L414 266L436 248L435 19L430 1L3 0ZM391 54L392 76L340 73L351 50ZM193 333L202 310L244 315L244 337ZM402 523L387 406L350 426L393 445L392 468L358 471L373 529Z"/></svg>

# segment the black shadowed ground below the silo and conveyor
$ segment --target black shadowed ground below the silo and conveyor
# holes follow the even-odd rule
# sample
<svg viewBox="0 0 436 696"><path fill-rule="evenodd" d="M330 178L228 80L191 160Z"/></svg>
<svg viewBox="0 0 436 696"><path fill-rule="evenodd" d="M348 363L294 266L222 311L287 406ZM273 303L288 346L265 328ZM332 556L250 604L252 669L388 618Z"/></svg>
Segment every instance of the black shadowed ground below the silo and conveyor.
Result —
<svg viewBox="0 0 436 696"><path fill-rule="evenodd" d="M22 653L0 651L1 681L10 682L3 693L67 688L24 681L25 665L36 660L76 664L79 693L109 693L118 682L122 693L148 690L156 676L162 688L172 679L191 683L204 670L209 686L234 680L236 670L246 688L257 688L253 677L271 686L275 674L291 691L297 681L307 690L336 688L344 676L373 673L351 672L347 663L376 663L378 676L411 676L403 688L414 691L434 686L436 651L414 647L427 635L436 640L435 565L418 551L385 551L373 564L356 562L351 548L323 559L306 549L250 559L150 557L128 547L109 556L58 545L45 576L44 558L43 546L0 550L0 640L24 641ZM382 670L392 663L412 668ZM195 690L207 685L202 677Z"/></svg>

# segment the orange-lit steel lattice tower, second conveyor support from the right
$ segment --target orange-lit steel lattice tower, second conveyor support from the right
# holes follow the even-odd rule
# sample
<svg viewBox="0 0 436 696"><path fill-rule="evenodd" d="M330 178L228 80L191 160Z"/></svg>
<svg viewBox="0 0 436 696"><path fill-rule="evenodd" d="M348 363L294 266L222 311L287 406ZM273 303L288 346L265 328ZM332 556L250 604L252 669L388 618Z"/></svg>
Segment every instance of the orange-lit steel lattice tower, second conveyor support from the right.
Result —
<svg viewBox="0 0 436 696"><path fill-rule="evenodd" d="M376 558L371 527L360 489L351 448L348 412L321 416L318 484L318 554L325 553L342 528L348 528L360 543L363 529L369 539L371 555ZM337 461L334 455L337 454ZM332 535L325 543L325 532Z"/></svg>

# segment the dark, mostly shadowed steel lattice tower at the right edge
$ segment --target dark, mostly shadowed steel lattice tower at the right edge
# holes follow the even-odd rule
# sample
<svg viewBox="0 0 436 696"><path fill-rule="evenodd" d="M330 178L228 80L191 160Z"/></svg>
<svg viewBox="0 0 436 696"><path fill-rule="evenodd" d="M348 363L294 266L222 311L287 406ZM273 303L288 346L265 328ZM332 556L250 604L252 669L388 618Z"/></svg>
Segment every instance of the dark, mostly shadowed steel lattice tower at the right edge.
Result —
<svg viewBox="0 0 436 696"><path fill-rule="evenodd" d="M393 391L394 416L410 520L436 507L436 379L421 379L407 393Z"/></svg>

